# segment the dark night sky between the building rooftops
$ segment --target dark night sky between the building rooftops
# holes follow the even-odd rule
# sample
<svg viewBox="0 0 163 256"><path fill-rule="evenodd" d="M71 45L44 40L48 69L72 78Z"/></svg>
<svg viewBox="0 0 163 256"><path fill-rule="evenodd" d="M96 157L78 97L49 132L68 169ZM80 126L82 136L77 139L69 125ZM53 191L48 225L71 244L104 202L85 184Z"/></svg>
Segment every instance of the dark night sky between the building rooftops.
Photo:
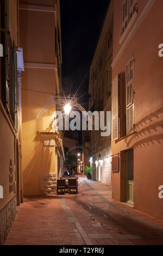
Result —
<svg viewBox="0 0 163 256"><path fill-rule="evenodd" d="M90 69L109 0L60 0L62 86L74 94ZM87 94L89 74L78 94ZM81 96L81 95L80 95ZM87 108L88 95L80 103Z"/></svg>

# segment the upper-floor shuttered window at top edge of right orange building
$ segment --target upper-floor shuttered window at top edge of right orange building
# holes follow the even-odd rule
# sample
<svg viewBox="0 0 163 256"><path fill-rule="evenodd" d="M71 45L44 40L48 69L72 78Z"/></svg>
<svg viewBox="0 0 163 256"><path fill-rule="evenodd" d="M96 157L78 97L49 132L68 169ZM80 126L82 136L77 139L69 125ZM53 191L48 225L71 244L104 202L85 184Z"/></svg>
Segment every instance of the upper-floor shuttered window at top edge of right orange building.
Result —
<svg viewBox="0 0 163 256"><path fill-rule="evenodd" d="M122 0L122 34L127 28L137 8L136 0Z"/></svg>

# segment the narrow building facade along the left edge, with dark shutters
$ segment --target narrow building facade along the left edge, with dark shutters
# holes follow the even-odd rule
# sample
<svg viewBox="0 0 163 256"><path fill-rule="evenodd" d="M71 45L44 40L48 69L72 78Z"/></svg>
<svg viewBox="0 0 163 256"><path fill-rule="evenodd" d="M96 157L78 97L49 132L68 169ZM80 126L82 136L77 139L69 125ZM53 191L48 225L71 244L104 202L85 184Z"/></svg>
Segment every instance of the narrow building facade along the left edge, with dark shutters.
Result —
<svg viewBox="0 0 163 256"><path fill-rule="evenodd" d="M17 1L0 1L0 245L23 202L21 172L21 68ZM18 56L20 57L17 59ZM21 61L20 61L21 60Z"/></svg>

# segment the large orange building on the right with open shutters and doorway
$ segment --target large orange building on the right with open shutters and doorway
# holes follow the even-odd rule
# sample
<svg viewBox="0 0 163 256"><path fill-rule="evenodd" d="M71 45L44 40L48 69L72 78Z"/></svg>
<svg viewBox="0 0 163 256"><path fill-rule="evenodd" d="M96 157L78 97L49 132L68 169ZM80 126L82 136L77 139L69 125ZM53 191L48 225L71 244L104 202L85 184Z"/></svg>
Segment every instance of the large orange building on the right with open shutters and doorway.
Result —
<svg viewBox="0 0 163 256"><path fill-rule="evenodd" d="M163 218L163 2L114 1L112 198Z"/></svg>

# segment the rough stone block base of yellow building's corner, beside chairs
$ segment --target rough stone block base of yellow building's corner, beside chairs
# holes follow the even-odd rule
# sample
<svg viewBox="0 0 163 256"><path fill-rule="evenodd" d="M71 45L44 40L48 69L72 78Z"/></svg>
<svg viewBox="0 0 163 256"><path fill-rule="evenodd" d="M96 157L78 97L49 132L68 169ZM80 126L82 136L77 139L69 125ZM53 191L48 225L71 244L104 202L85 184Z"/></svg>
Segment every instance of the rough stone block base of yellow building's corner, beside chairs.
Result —
<svg viewBox="0 0 163 256"><path fill-rule="evenodd" d="M41 174L41 195L57 193L57 175L55 173Z"/></svg>

